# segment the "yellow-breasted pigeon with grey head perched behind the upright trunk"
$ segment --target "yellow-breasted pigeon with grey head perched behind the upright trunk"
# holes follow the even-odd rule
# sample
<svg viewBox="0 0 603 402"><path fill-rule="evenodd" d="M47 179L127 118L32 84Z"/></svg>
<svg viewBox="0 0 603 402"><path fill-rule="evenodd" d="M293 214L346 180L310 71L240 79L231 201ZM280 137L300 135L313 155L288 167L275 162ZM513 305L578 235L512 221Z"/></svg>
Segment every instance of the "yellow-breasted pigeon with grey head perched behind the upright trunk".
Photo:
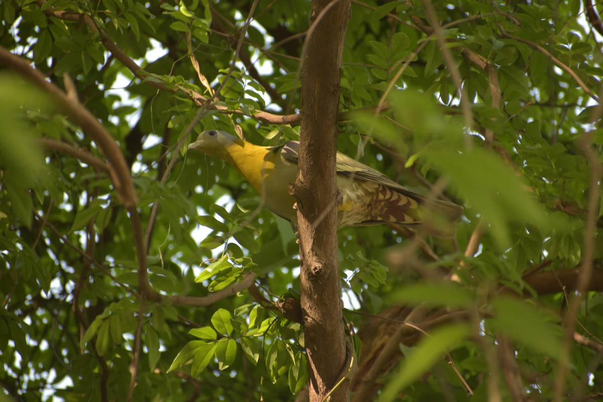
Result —
<svg viewBox="0 0 603 402"><path fill-rule="evenodd" d="M206 130L188 149L233 166L276 215L297 225L289 184L297 177L299 142L259 146L226 131ZM436 237L451 237L463 207L419 195L347 155L337 152L338 228L393 222Z"/></svg>

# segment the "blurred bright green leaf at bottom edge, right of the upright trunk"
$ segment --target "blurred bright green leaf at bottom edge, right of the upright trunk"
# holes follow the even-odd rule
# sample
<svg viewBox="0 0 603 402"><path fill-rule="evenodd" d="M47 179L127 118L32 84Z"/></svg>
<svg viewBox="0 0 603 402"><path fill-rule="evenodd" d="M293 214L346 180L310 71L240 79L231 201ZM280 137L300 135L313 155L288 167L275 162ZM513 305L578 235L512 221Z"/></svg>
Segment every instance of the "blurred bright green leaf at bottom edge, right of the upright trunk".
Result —
<svg viewBox="0 0 603 402"><path fill-rule="evenodd" d="M446 354L446 351L450 353L459 342L467 339L469 334L469 325L449 325L423 338L410 353L406 354L399 371L390 378L380 394L379 402L396 400L397 395L406 386L428 371Z"/></svg>

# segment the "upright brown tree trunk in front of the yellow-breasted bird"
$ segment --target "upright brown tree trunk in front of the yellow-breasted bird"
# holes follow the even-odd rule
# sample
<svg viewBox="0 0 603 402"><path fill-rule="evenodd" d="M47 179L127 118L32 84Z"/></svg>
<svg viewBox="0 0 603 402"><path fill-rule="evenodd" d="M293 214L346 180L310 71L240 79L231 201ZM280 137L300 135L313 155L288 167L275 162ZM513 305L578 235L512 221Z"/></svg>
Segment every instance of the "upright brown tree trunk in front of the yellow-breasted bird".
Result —
<svg viewBox="0 0 603 402"><path fill-rule="evenodd" d="M311 402L322 401L350 363L339 292L335 178L339 71L350 10L350 0L312 2L301 71L303 118L292 193L298 207L301 308ZM349 401L349 383L338 385L330 401Z"/></svg>

